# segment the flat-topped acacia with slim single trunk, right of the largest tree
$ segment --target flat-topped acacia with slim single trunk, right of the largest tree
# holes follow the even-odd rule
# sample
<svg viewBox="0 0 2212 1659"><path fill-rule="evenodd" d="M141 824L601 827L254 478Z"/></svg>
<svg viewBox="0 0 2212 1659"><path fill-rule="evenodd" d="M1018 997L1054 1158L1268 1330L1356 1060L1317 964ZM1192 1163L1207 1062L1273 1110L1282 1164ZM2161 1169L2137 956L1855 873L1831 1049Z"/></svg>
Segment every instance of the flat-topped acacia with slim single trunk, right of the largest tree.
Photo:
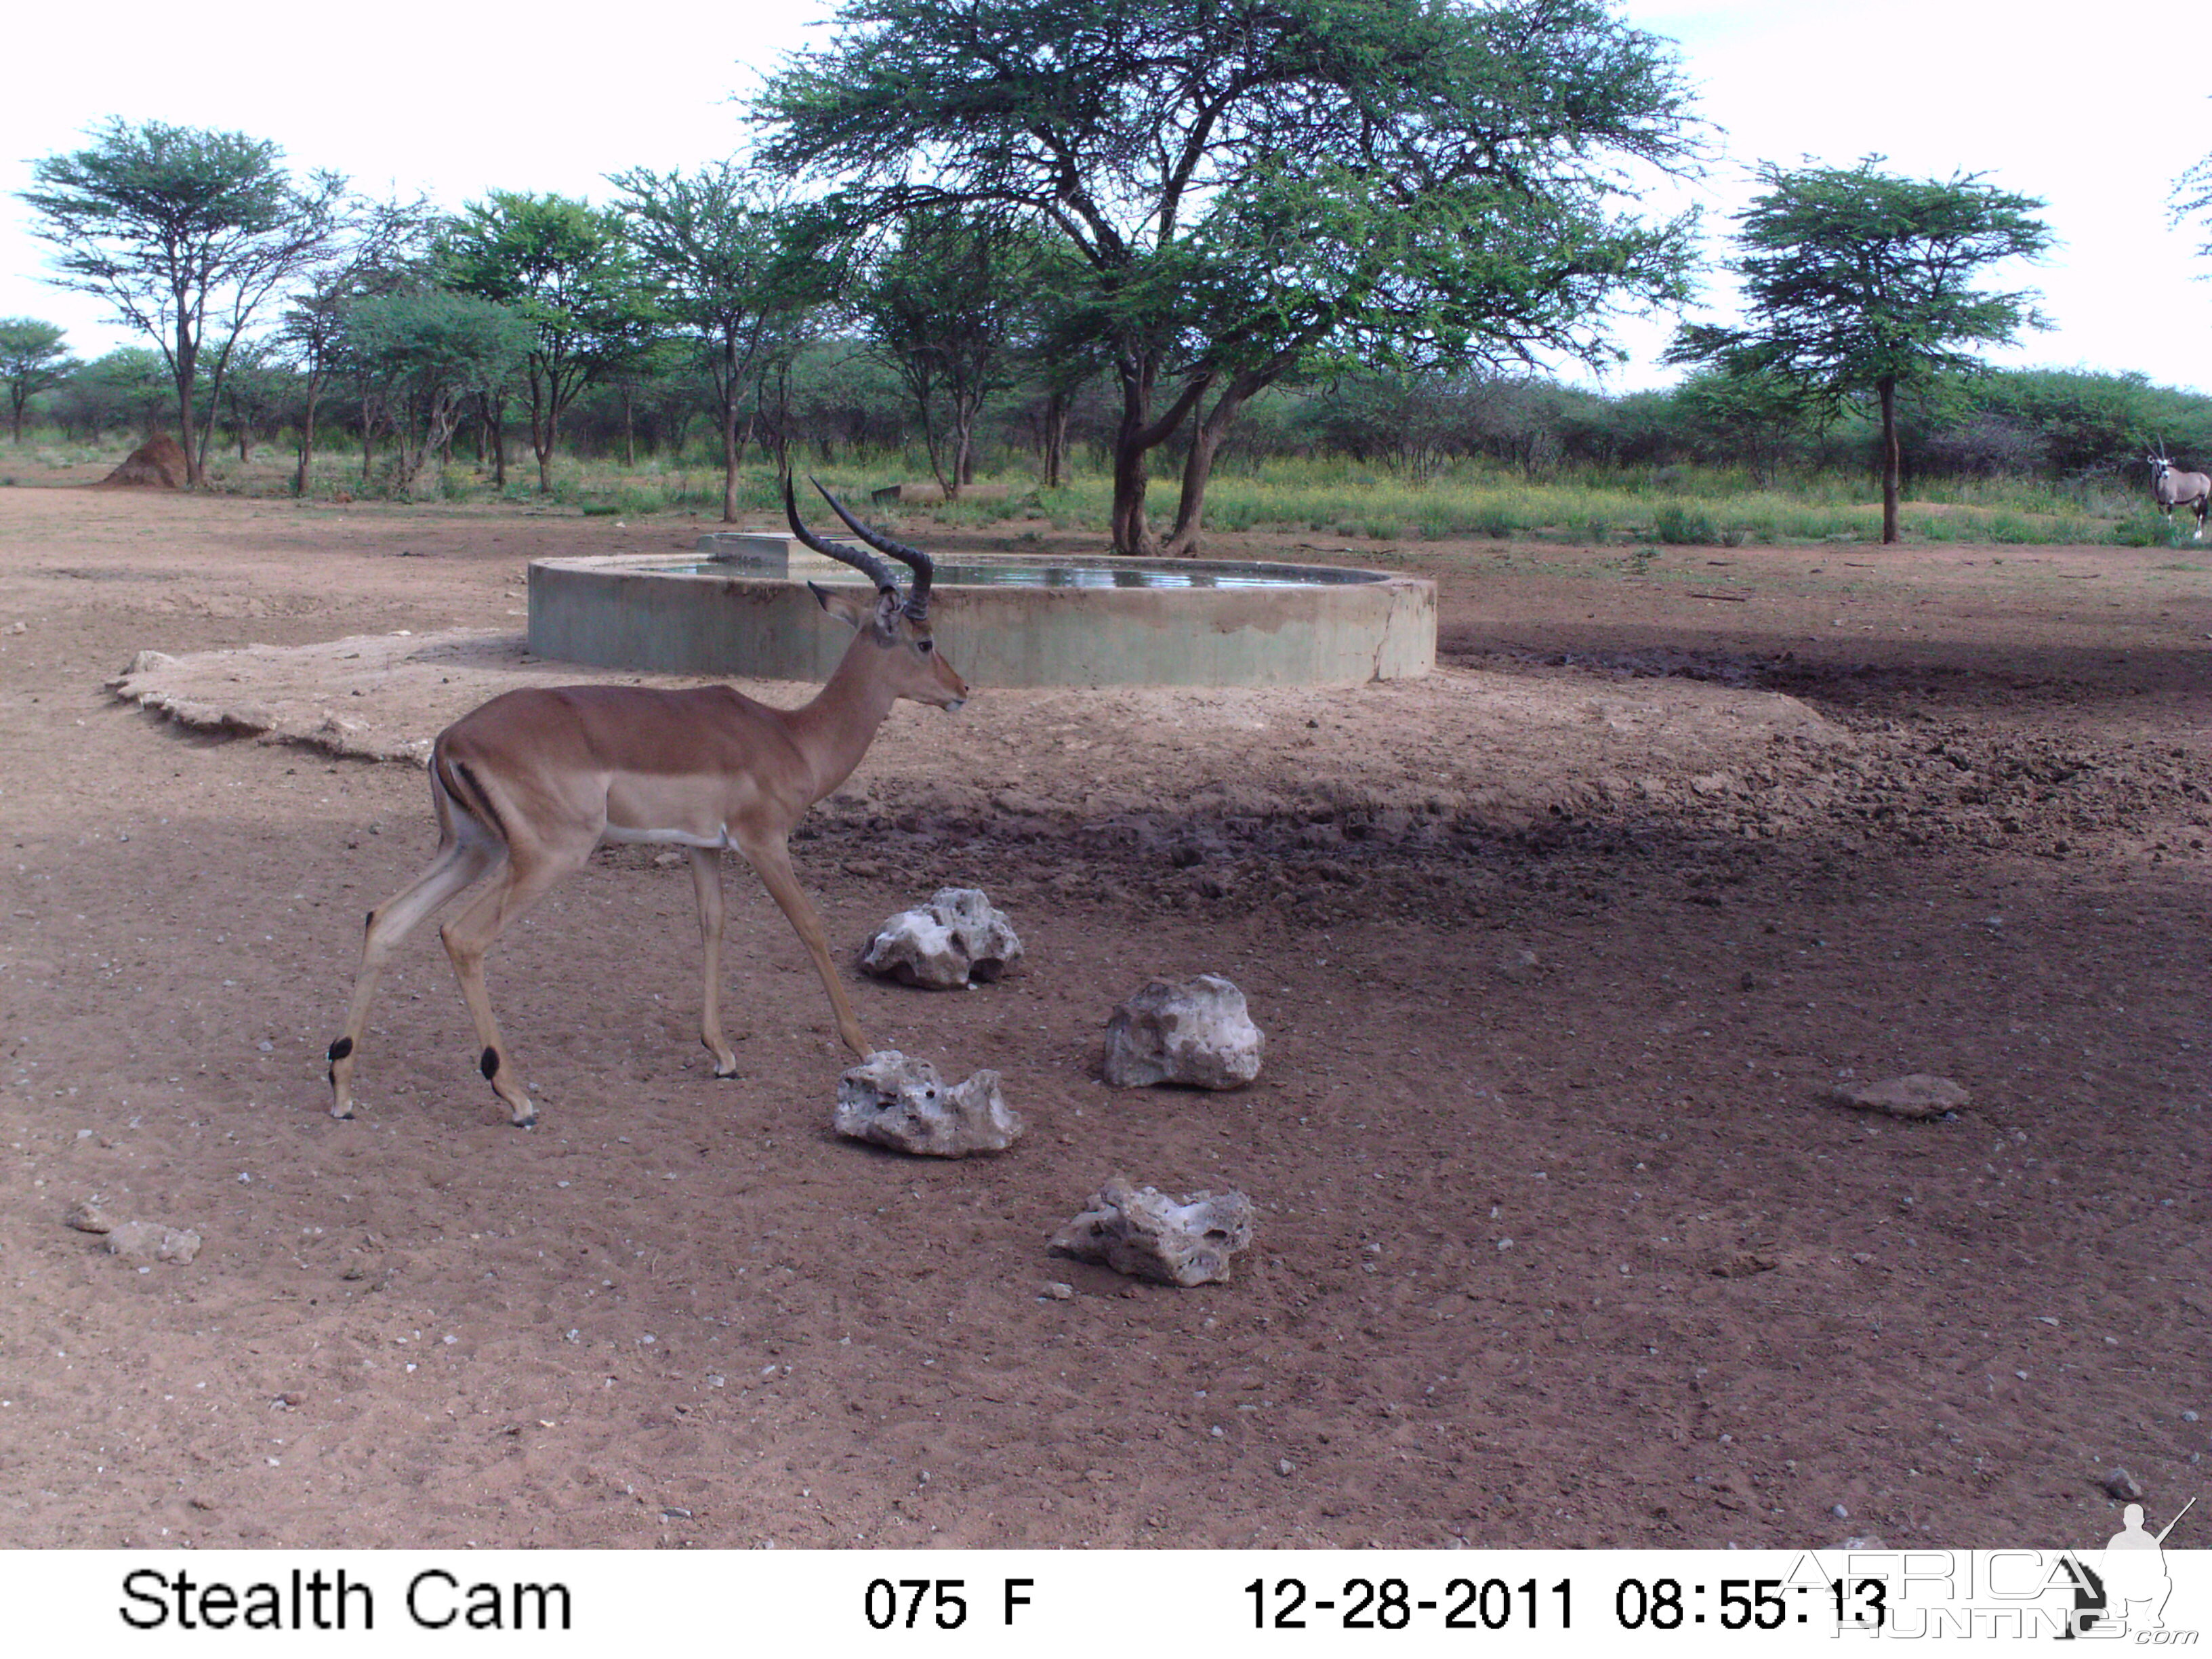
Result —
<svg viewBox="0 0 2212 1659"><path fill-rule="evenodd" d="M2033 294L1971 288L2006 259L2051 246L2035 197L1984 186L1978 173L1898 179L1869 155L1856 168L1759 166L1765 195L1736 215L1743 327L1697 323L1668 363L1712 363L1778 376L1834 409L1874 396L1882 418L1882 542L1898 540L1898 387L1940 372L1973 374L1962 345L2004 345L2046 327Z"/></svg>

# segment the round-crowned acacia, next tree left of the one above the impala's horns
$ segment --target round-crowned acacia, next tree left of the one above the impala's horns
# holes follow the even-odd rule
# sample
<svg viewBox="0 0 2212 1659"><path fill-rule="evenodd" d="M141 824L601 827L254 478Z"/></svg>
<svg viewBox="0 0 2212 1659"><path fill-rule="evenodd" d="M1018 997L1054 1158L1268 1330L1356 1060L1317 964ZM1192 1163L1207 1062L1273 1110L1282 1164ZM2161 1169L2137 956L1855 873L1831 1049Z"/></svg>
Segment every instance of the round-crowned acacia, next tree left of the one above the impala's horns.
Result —
<svg viewBox="0 0 2212 1659"><path fill-rule="evenodd" d="M655 310L624 217L560 195L493 190L451 221L438 254L447 288L524 316L538 489L553 491L560 420L575 396L653 341Z"/></svg>

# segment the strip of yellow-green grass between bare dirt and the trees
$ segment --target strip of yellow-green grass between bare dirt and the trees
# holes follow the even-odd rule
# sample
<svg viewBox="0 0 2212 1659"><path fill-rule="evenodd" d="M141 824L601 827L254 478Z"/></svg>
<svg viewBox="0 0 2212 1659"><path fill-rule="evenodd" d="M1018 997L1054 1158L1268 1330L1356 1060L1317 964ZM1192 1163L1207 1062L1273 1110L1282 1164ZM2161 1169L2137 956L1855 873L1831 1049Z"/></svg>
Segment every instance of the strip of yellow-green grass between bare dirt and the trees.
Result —
<svg viewBox="0 0 2212 1659"><path fill-rule="evenodd" d="M122 460L126 447L27 442L0 451L0 487L84 476ZM922 480L911 456L845 456L814 462L823 482L865 500L894 480ZM1166 471L1166 469L1164 469ZM290 456L263 449L252 462L210 458L217 489L276 495L292 484ZM489 469L456 462L429 476L418 498L445 502L544 502L586 515L719 513L721 469L697 456L653 458L637 467L608 460L562 460L551 498L538 493L529 458L509 465L507 489L495 491ZM1079 469L1066 487L1042 489L1026 465L987 473L989 500L945 507L905 507L905 518L945 526L1040 520L1055 531L1106 533L1110 478ZM316 458L314 495L374 495L363 487L358 451L325 449ZM1152 482L1155 520L1175 509L1177 478ZM743 511L779 507L774 469L748 467L739 489ZM1367 540L1548 540L1577 544L1743 546L1787 542L1880 540L1880 498L1871 480L1845 476L1794 478L1761 487L1743 473L1663 467L1586 471L1531 482L1504 467L1460 465L1413 480L1352 460L1228 462L1206 498L1214 531L1272 531L1287 535L1343 535ZM2104 482L2053 484L2044 480L1927 480L1905 504L1909 542L2088 544L2157 546L2172 538L2143 495ZM2181 531L2181 540L2188 529Z"/></svg>

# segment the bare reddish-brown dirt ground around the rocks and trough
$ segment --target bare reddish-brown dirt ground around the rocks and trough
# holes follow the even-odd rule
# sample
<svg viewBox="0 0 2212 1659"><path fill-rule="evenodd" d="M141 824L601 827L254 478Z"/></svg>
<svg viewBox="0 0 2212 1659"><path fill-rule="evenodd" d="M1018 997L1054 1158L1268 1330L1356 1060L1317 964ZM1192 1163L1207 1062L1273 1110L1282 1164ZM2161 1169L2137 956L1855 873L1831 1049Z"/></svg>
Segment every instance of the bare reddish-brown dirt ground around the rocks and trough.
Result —
<svg viewBox="0 0 2212 1659"><path fill-rule="evenodd" d="M2205 551L1221 538L1436 575L1444 666L900 708L796 843L854 949L1013 916L989 989L854 978L1013 1152L830 1135L743 869L714 1082L650 849L493 958L538 1130L429 931L332 1121L409 743L580 677L524 560L697 529L0 489L0 1544L2086 1546L2115 1467L2203 1489ZM1259 1084L1104 1088L1206 969ZM1911 1071L1973 1106L1823 1097ZM1234 1281L1048 1256L1113 1170L1250 1192Z"/></svg>

